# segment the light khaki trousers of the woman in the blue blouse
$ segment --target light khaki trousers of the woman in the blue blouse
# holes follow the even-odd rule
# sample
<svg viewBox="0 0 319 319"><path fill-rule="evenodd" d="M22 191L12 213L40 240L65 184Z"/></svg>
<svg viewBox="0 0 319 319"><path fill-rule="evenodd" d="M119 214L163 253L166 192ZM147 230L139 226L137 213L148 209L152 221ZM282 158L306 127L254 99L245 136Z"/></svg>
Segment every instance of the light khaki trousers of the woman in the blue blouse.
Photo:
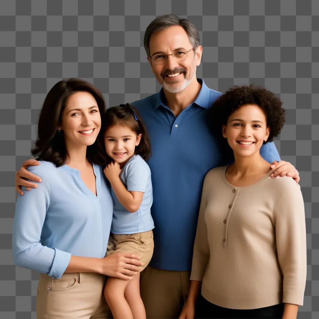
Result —
<svg viewBox="0 0 319 319"><path fill-rule="evenodd" d="M60 279L41 274L38 319L113 318L103 295L105 276L93 272L63 274Z"/></svg>

